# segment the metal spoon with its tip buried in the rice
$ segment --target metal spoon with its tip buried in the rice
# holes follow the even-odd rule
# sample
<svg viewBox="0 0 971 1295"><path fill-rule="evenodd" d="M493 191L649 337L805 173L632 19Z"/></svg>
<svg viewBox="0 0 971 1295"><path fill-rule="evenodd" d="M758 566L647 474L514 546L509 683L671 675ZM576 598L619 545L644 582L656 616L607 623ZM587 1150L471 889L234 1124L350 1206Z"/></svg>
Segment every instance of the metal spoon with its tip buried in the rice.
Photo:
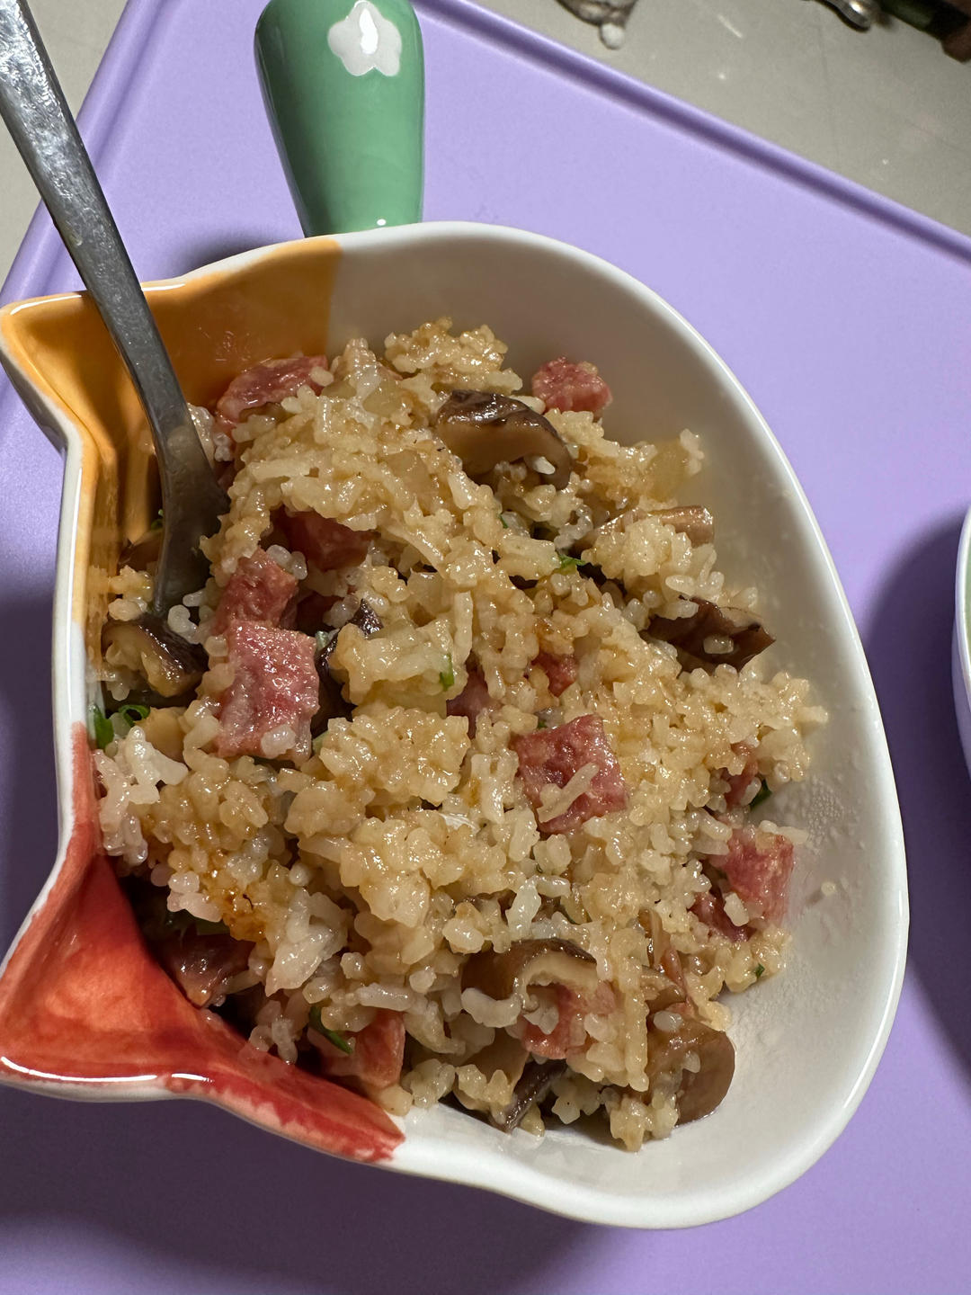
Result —
<svg viewBox="0 0 971 1295"><path fill-rule="evenodd" d="M153 611L206 581L199 540L229 506L23 0L0 0L0 117L131 373L151 427L163 537Z"/></svg>

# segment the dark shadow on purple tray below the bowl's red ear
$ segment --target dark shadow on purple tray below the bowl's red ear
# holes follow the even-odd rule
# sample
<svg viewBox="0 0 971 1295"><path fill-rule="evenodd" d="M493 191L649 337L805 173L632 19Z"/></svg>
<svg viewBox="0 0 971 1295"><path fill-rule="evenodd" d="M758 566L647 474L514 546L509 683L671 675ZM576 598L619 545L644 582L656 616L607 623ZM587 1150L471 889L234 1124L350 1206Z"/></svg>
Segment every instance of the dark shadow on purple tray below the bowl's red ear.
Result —
<svg viewBox="0 0 971 1295"><path fill-rule="evenodd" d="M214 1289L237 1295L519 1290L593 1232L229 1120L190 1102L101 1106L0 1089L0 1229L101 1233L145 1264L146 1291L161 1289L149 1273L188 1268L193 1282L219 1273Z"/></svg>

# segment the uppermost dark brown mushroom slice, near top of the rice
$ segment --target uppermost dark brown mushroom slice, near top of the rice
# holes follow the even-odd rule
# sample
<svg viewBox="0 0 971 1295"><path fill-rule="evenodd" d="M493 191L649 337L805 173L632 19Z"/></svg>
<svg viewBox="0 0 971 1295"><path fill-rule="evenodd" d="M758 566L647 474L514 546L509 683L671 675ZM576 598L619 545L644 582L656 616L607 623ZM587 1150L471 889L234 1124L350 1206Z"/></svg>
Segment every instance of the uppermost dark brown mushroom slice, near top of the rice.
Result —
<svg viewBox="0 0 971 1295"><path fill-rule="evenodd" d="M559 433L548 418L511 396L453 391L439 409L434 430L473 478L484 477L497 464L535 455L553 466L544 480L557 490L570 480L574 461Z"/></svg>

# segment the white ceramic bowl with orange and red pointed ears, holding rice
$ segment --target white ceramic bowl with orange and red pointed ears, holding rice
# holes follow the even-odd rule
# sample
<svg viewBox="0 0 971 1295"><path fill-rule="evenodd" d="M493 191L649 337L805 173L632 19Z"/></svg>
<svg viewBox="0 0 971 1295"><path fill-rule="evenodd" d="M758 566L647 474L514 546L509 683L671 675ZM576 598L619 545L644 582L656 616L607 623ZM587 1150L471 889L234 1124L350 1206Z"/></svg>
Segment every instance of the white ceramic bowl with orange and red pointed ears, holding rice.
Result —
<svg viewBox="0 0 971 1295"><path fill-rule="evenodd" d="M528 374L597 361L621 442L704 438L691 501L715 509L729 580L757 584L778 642L769 668L814 681L830 723L816 769L778 796L805 825L790 966L733 1000L738 1068L711 1116L632 1155L571 1129L501 1134L438 1107L392 1121L361 1098L241 1049L148 958L97 853L85 641L105 572L157 506L133 392L91 304L65 295L0 313L3 359L66 448L54 631L61 850L0 979L0 1068L39 1093L194 1096L311 1146L473 1184L577 1219L699 1224L803 1173L845 1125L887 1040L908 901L886 739L856 628L807 500L751 400L702 338L641 284L585 253L510 229L423 224L311 238L149 289L190 400L212 401L267 355L381 341L439 315L489 322ZM697 484L697 488L694 488Z"/></svg>

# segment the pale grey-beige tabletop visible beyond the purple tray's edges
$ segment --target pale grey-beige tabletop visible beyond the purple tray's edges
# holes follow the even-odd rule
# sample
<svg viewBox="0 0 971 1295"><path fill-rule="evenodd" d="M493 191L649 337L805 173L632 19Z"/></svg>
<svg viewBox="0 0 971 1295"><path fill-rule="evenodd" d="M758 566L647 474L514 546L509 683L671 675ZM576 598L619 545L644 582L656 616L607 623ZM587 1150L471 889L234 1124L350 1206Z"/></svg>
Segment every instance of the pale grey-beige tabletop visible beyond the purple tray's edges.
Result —
<svg viewBox="0 0 971 1295"><path fill-rule="evenodd" d="M157 3L157 0L133 0ZM488 8L971 234L971 65L895 19L867 32L818 0L638 0L619 51L557 0ZM124 0L31 0L76 109ZM0 130L0 281L35 206Z"/></svg>

